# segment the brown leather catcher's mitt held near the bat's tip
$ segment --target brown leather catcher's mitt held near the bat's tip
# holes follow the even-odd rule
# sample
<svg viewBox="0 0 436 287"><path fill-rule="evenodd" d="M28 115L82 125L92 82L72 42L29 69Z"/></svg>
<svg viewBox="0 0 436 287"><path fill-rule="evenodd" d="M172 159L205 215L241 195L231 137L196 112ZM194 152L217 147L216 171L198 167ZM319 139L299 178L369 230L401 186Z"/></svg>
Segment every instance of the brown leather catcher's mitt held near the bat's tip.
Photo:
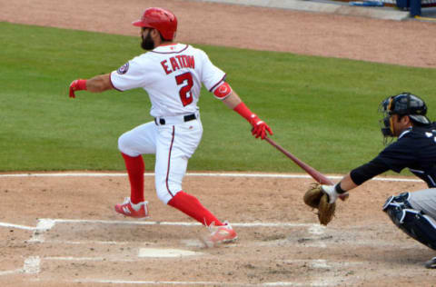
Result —
<svg viewBox="0 0 436 287"><path fill-rule="evenodd" d="M327 225L333 219L336 203L329 203L329 196L322 192L319 183L312 183L309 190L304 193L304 203L318 209L318 219L322 225Z"/></svg>

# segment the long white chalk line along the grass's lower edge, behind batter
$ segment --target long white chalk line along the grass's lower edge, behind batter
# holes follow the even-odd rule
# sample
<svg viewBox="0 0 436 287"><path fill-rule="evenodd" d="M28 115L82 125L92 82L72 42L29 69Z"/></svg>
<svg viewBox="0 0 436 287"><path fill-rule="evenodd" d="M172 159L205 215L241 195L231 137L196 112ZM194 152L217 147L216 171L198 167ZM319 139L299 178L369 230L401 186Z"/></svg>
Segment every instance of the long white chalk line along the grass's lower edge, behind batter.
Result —
<svg viewBox="0 0 436 287"><path fill-rule="evenodd" d="M1 177L118 177L127 176L127 173L4 173ZM154 176L154 173L144 173L144 176ZM282 173L186 173L186 176L211 176L211 177L259 177L259 178L309 178L308 174L282 174ZM331 179L342 179L338 175L326 175ZM373 181L384 182L422 182L411 178L374 177Z"/></svg>

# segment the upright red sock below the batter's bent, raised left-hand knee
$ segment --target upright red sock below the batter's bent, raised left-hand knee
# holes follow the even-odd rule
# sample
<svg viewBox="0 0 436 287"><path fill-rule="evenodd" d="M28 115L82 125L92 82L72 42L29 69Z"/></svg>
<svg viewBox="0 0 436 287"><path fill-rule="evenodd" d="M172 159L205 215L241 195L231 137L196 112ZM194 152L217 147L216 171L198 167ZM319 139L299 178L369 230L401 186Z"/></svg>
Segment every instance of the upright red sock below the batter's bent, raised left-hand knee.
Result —
<svg viewBox="0 0 436 287"><path fill-rule="evenodd" d="M129 174L130 201L134 204L144 202L144 160L143 156L136 157L121 153L124 158L125 168Z"/></svg>

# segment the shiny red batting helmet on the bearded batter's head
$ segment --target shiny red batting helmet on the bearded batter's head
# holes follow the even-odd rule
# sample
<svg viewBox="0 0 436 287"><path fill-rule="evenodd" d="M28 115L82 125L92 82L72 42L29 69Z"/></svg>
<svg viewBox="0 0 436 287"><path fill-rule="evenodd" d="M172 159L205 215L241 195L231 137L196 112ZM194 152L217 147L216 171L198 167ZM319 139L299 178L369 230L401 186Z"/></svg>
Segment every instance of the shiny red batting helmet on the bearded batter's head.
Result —
<svg viewBox="0 0 436 287"><path fill-rule="evenodd" d="M168 10L152 7L146 9L141 20L134 21L133 25L157 29L163 39L173 40L177 31L177 18Z"/></svg>

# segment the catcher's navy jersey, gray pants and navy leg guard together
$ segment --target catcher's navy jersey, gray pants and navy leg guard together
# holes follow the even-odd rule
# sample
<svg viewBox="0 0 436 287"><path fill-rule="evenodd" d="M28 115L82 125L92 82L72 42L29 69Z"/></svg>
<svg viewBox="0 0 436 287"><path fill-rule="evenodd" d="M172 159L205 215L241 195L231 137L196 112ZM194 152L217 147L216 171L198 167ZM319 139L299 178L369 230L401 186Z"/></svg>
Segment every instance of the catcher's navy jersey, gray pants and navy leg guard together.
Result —
<svg viewBox="0 0 436 287"><path fill-rule="evenodd" d="M396 142L350 175L360 185L380 173L400 173L404 168L409 168L429 188L391 196L383 211L403 232L436 250L436 122L403 131Z"/></svg>

